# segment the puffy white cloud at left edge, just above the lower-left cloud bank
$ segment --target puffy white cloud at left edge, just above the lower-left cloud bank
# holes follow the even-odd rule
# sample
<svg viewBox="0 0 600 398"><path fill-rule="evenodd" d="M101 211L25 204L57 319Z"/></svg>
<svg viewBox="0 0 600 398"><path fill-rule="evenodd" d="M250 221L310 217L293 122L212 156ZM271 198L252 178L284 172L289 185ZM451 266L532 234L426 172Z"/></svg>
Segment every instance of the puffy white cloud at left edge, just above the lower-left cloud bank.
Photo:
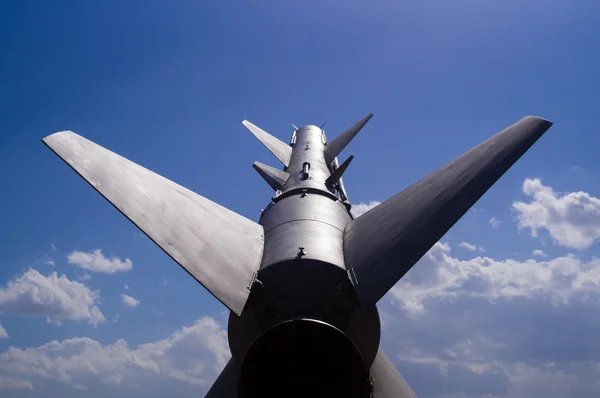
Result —
<svg viewBox="0 0 600 398"><path fill-rule="evenodd" d="M65 275L52 272L46 277L30 268L0 289L0 310L51 321L86 320L95 326L105 320L98 299L99 292Z"/></svg>

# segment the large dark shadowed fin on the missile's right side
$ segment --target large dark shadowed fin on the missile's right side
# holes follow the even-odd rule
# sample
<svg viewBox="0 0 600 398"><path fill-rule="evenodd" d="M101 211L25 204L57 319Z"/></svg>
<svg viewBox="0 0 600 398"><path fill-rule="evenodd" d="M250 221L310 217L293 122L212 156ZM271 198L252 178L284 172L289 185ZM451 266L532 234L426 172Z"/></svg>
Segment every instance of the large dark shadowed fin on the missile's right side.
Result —
<svg viewBox="0 0 600 398"><path fill-rule="evenodd" d="M528 116L351 221L344 259L361 305L375 304L551 125Z"/></svg>

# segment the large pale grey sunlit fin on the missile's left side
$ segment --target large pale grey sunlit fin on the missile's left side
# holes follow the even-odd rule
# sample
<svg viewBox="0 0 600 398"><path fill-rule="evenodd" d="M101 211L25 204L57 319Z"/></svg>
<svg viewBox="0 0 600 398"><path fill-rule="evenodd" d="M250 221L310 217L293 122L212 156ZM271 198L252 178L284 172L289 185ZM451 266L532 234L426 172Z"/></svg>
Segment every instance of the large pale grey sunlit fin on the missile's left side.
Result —
<svg viewBox="0 0 600 398"><path fill-rule="evenodd" d="M71 131L43 142L231 311L241 314L263 229Z"/></svg>

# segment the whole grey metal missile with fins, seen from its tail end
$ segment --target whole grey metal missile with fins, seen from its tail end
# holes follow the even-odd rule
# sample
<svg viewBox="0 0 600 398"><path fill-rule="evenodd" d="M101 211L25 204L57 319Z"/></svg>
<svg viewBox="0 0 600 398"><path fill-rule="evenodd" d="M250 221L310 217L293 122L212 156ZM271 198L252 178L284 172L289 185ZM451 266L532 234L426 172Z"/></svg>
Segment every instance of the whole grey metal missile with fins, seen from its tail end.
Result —
<svg viewBox="0 0 600 398"><path fill-rule="evenodd" d="M283 164L253 165L275 191L258 222L72 131L42 141L229 308L232 356L207 397L416 397L376 304L552 123L525 117L355 219L338 156L371 117L290 144L243 121Z"/></svg>

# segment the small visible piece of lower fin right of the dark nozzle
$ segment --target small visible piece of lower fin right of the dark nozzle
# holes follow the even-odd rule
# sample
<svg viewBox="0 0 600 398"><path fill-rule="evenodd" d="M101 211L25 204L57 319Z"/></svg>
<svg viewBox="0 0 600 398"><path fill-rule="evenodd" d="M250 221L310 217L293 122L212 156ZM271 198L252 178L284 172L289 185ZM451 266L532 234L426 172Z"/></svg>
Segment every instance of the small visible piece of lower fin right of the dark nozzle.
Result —
<svg viewBox="0 0 600 398"><path fill-rule="evenodd" d="M372 398L417 398L392 361L381 350L377 352L369 375L373 382Z"/></svg>

